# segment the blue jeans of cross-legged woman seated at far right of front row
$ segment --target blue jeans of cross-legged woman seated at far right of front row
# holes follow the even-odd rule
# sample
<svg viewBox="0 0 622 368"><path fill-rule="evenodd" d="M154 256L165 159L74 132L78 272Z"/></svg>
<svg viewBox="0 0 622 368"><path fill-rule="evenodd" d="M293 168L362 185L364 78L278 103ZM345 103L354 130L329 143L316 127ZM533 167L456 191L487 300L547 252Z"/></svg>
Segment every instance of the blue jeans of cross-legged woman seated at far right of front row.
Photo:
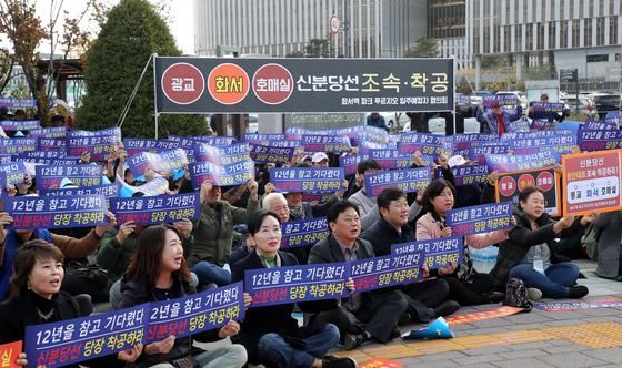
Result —
<svg viewBox="0 0 622 368"><path fill-rule="evenodd" d="M529 265L518 265L510 270L510 278L522 279L526 287L540 289L550 298L565 298L570 295L568 287L579 278L579 266L562 262L549 266L542 275Z"/></svg>

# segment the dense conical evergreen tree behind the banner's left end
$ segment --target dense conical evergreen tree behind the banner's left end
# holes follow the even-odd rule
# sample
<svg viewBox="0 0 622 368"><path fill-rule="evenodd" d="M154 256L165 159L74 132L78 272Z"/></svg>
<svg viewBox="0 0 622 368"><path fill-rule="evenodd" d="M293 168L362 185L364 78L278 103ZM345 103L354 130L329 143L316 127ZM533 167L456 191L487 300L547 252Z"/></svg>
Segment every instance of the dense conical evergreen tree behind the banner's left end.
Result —
<svg viewBox="0 0 622 368"><path fill-rule="evenodd" d="M169 27L146 0L121 0L106 14L98 39L87 52L83 104L79 129L116 126L152 53L181 57ZM153 68L148 67L122 125L123 135L153 137ZM158 136L205 133L203 115L161 115Z"/></svg>

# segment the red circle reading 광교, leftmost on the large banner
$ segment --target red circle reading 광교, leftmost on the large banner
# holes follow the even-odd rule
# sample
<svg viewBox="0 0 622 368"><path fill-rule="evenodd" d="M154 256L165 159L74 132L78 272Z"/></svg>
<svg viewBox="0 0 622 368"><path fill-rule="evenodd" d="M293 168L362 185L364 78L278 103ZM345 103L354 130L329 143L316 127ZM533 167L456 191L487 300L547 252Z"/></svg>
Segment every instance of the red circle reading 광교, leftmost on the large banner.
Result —
<svg viewBox="0 0 622 368"><path fill-rule="evenodd" d="M187 105L199 100L204 90L203 74L194 65L180 62L162 73L162 91L177 104Z"/></svg>

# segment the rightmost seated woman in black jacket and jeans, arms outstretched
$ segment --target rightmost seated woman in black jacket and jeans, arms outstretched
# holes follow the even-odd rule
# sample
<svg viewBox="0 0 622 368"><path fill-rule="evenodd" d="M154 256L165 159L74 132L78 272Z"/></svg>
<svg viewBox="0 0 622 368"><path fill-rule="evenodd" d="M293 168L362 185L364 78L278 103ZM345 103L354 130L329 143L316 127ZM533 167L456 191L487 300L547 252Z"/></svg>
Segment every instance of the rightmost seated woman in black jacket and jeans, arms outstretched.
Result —
<svg viewBox="0 0 622 368"><path fill-rule="evenodd" d="M566 216L559 222L544 212L544 192L535 186L525 187L514 207L516 227L508 233L509 239L499 244L496 264L490 272L499 289L505 289L510 278L519 278L528 288L534 288L532 299L544 295L550 298L582 298L589 289L573 286L579 278L579 266L561 262L555 255L555 238L571 237L599 217L592 213L582 217ZM535 295L535 296L534 296Z"/></svg>

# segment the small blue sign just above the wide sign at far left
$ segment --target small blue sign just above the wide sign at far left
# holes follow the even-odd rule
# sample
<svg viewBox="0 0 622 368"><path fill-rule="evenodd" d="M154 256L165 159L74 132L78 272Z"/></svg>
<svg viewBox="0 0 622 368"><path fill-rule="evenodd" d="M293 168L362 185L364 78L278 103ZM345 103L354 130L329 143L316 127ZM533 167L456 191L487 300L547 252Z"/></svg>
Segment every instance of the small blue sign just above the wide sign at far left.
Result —
<svg viewBox="0 0 622 368"><path fill-rule="evenodd" d="M37 188L47 190L59 185L63 178L69 178L76 186L101 185L101 165L54 166L39 165L37 172Z"/></svg>

